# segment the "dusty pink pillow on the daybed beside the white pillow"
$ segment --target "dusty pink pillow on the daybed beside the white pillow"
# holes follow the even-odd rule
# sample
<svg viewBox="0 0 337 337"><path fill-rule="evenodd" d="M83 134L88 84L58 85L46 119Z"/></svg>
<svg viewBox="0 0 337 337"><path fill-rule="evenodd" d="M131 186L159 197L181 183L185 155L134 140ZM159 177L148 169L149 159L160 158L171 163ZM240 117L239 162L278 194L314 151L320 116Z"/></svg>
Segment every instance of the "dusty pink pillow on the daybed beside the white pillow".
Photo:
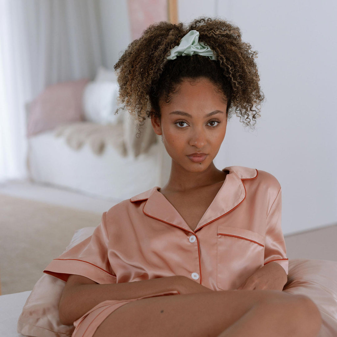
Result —
<svg viewBox="0 0 337 337"><path fill-rule="evenodd" d="M89 79L61 82L45 88L29 105L27 137L83 118L82 96Z"/></svg>

